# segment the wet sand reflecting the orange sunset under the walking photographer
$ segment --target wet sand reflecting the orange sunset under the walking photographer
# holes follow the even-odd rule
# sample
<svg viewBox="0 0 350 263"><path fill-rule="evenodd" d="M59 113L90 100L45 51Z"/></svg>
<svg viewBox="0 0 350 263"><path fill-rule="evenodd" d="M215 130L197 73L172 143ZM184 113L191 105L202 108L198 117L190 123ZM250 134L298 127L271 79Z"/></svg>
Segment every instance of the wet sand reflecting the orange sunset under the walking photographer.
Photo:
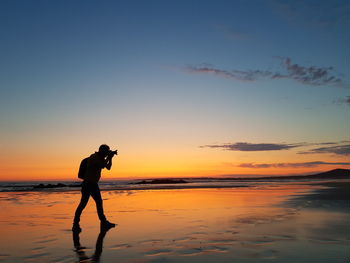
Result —
<svg viewBox="0 0 350 263"><path fill-rule="evenodd" d="M104 191L100 233L70 192L0 193L0 262L350 262L350 182Z"/></svg>

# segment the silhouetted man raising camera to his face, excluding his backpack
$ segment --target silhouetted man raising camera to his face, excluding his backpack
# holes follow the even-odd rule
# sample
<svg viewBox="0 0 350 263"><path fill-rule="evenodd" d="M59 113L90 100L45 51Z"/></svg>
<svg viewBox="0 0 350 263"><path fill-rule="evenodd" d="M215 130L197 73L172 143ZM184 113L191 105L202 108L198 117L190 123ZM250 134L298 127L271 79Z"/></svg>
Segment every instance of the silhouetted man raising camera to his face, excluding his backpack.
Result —
<svg viewBox="0 0 350 263"><path fill-rule="evenodd" d="M98 152L90 155L86 164L86 170L84 171L84 181L81 188L81 200L75 211L73 221L73 231L80 232L81 228L79 225L80 215L87 205L90 195L96 202L97 214L101 221L102 228L115 227L115 224L107 221L106 216L103 212L103 203L100 188L98 187L98 181L101 178L101 170L107 168L108 170L112 167L112 158L117 154L117 151L111 151L108 145L101 145Z"/></svg>

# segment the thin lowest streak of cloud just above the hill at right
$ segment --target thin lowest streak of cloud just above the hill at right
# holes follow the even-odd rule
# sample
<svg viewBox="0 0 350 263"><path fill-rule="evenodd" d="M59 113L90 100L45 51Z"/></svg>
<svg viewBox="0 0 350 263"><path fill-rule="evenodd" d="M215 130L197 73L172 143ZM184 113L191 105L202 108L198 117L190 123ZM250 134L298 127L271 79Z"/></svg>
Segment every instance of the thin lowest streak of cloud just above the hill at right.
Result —
<svg viewBox="0 0 350 263"><path fill-rule="evenodd" d="M301 163L241 163L237 167L242 168L303 168L303 167L315 167L320 165L350 165L347 162L323 162L323 161L314 161L314 162L301 162Z"/></svg>

